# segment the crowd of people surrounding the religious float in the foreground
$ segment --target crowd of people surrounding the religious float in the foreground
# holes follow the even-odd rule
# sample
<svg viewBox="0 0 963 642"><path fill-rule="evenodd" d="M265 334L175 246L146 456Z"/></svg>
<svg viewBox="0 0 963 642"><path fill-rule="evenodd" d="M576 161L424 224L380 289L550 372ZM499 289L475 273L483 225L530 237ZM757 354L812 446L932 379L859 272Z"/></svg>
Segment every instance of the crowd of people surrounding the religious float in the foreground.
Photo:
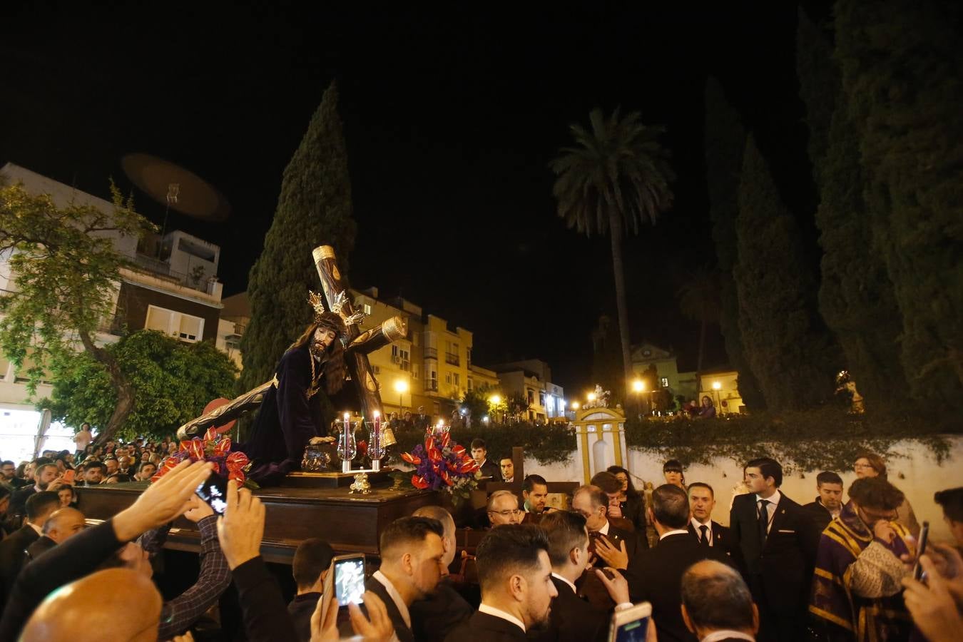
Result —
<svg viewBox="0 0 963 642"><path fill-rule="evenodd" d="M299 544L297 592L286 600L261 556L261 501L229 482L218 517L195 495L210 464L184 461L112 519L86 526L74 485L147 479L144 466L156 468L169 444L86 444L2 463L0 639L96 630L111 640L189 640L225 591L247 640L605 640L612 614L641 602L652 605L647 640L942 642L963 631L963 488L935 497L955 541L930 542L918 557L913 508L871 452L856 458L848 488L837 473L817 475L809 503L781 492L778 462L747 462L728 526L713 520L716 490L687 480L675 460L664 483L639 490L612 467L561 507L544 477L527 475L518 495L490 493L468 525L482 531L470 550L456 545L464 540L447 510L423 506L383 528L363 604L339 611L323 606L332 547ZM490 461L481 440L471 449L483 477L515 480L510 458ZM181 516L199 532L199 571L164 600L154 558Z"/></svg>

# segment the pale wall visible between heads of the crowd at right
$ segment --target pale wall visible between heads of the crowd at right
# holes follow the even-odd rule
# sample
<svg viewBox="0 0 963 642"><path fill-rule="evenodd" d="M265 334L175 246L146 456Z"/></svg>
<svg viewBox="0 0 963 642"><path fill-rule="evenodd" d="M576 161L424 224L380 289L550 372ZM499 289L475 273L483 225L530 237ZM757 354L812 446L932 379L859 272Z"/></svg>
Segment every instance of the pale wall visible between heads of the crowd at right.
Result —
<svg viewBox="0 0 963 642"><path fill-rule="evenodd" d="M931 534L938 540L949 540L950 530L943 522L942 509L933 501L933 493L945 488L963 486L963 436L947 435L943 437L948 450L941 449L938 457L936 451L928 444L919 440L900 440L890 448L887 456L889 479L903 493L913 505L917 519L922 524L928 520ZM858 449L860 442L854 442L852 448ZM838 448L834 444L833 448ZM636 487L641 483L638 477L652 481L654 485L663 482L662 467L666 456L658 452L629 450L629 471L637 478ZM942 461L941 461L942 459ZM686 467L686 482L703 481L716 491L716 510L713 519L719 524L729 524L729 502L732 499L732 489L742 479L742 461L729 457L716 457L709 464L691 464ZM534 457L525 459L526 474L537 473L550 481L582 481L582 462L578 461L575 451L565 462L541 464ZM816 474L819 471L802 473L795 470L783 479L781 491L798 503L808 503L816 498ZM843 477L844 496L846 488L855 475L852 469L837 470ZM844 498L846 499L846 498Z"/></svg>

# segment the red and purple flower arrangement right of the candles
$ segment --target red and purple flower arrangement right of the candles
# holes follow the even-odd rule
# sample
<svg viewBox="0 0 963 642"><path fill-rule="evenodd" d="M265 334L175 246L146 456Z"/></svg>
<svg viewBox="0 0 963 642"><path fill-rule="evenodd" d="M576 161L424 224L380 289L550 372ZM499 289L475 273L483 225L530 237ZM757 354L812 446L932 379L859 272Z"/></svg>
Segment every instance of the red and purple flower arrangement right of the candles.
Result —
<svg viewBox="0 0 963 642"><path fill-rule="evenodd" d="M448 430L429 427L425 431L425 446L419 444L411 452L403 452L402 459L415 467L411 485L415 488L444 490L453 501L468 499L478 487L478 462L452 441Z"/></svg>

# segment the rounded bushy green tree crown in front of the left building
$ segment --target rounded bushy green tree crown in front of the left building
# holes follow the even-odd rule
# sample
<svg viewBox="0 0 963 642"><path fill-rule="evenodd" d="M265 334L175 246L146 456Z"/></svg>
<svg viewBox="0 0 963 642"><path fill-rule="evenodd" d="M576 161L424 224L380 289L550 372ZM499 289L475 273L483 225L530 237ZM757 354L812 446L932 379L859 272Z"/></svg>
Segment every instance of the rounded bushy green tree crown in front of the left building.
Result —
<svg viewBox="0 0 963 642"><path fill-rule="evenodd" d="M115 433L133 439L169 437L180 424L199 416L208 401L231 398L237 368L212 342L186 344L155 330L141 330L105 348L117 360L134 391L134 405ZM60 364L50 408L67 425L106 425L117 404L110 376L90 355L73 355Z"/></svg>

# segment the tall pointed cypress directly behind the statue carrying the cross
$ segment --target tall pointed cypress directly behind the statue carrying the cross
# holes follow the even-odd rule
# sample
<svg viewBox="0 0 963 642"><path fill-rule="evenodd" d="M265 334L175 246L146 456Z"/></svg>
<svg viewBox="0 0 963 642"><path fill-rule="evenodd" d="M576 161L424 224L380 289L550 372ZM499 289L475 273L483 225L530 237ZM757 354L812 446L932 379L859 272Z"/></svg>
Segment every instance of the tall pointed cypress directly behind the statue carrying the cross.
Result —
<svg viewBox="0 0 963 642"><path fill-rule="evenodd" d="M348 152L332 82L284 169L264 251L250 270L251 318L241 339L243 391L271 379L281 355L311 321L307 295L321 291L311 250L332 245L347 274L355 231Z"/></svg>

